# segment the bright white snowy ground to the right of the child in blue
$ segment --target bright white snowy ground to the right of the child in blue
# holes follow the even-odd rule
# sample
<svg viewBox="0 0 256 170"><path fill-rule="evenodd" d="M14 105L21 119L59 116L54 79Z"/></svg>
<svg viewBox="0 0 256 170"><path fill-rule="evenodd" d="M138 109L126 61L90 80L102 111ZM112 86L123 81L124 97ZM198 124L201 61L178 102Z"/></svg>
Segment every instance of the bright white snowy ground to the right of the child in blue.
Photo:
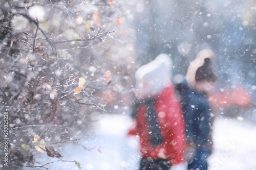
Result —
<svg viewBox="0 0 256 170"><path fill-rule="evenodd" d="M256 125L218 117L214 124L210 170L255 170Z"/></svg>

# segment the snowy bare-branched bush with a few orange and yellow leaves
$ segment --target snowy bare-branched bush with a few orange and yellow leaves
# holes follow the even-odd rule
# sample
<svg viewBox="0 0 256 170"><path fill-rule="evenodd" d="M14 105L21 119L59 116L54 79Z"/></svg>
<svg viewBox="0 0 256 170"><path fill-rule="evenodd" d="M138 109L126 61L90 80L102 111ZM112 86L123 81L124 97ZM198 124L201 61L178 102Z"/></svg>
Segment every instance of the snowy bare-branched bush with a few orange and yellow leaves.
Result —
<svg viewBox="0 0 256 170"><path fill-rule="evenodd" d="M130 7L113 0L0 2L0 119L2 129L8 112L8 167L35 165L35 135L48 144L48 156L60 158L49 144L72 142L90 130L92 114L125 107L127 98L120 101L133 74ZM1 151L4 138L1 133Z"/></svg>

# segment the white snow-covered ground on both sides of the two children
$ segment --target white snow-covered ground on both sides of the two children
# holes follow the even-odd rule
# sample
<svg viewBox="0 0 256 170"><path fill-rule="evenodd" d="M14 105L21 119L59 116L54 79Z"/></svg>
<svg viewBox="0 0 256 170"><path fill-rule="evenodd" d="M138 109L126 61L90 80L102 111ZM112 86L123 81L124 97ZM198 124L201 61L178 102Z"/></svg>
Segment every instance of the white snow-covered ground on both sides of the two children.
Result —
<svg viewBox="0 0 256 170"><path fill-rule="evenodd" d="M127 137L132 120L127 115L102 115L94 133L79 144L65 144L64 160L78 161L87 170L137 169L140 160L138 139ZM256 170L256 125L218 117L214 129L214 152L209 158L209 170ZM90 150L90 151L89 151ZM51 162L57 158L44 158ZM74 162L48 164L50 169L79 169Z"/></svg>

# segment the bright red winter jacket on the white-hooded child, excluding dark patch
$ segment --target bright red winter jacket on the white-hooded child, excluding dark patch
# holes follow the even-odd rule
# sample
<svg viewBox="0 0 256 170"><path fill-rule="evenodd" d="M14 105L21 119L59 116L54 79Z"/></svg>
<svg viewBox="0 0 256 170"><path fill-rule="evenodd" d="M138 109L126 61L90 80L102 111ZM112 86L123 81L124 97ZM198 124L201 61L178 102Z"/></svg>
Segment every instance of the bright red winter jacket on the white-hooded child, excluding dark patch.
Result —
<svg viewBox="0 0 256 170"><path fill-rule="evenodd" d="M178 102L173 85L167 86L157 95L155 104L158 122L163 137L163 143L154 147L148 134L148 122L145 116L146 106L140 105L136 116L136 126L129 135L140 138L142 158L168 159L171 165L185 161L185 126L180 103Z"/></svg>

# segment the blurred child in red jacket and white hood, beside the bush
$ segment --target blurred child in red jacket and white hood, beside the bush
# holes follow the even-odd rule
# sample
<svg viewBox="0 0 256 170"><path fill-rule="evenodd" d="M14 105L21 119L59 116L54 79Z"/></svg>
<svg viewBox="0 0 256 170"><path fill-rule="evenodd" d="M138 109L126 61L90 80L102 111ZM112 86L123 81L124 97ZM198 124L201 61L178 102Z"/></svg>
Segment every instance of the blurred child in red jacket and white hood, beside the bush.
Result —
<svg viewBox="0 0 256 170"><path fill-rule="evenodd" d="M140 169L167 170L185 162L185 126L171 71L170 57L161 54L135 74L138 102L129 134L139 136Z"/></svg>

